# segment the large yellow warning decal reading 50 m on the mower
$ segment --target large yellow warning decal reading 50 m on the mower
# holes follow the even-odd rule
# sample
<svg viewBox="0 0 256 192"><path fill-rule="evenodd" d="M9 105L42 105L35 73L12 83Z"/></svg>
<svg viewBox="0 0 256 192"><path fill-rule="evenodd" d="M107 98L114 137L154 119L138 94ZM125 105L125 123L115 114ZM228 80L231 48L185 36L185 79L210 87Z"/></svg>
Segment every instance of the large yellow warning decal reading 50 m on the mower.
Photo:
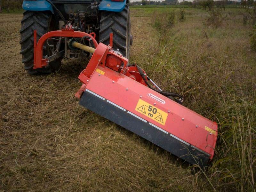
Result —
<svg viewBox="0 0 256 192"><path fill-rule="evenodd" d="M135 110L162 125L165 124L168 116L168 113L165 113L141 99L139 99Z"/></svg>

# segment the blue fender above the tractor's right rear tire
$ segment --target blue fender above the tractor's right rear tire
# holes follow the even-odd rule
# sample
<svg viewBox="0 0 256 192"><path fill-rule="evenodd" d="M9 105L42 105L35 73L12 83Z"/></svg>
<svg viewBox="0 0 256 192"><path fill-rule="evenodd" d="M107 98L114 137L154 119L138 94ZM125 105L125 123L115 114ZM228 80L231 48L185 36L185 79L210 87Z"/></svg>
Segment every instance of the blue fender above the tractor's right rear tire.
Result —
<svg viewBox="0 0 256 192"><path fill-rule="evenodd" d="M121 12L125 7L126 1L111 1L111 0L102 0L99 4L100 11L112 11L112 12Z"/></svg>

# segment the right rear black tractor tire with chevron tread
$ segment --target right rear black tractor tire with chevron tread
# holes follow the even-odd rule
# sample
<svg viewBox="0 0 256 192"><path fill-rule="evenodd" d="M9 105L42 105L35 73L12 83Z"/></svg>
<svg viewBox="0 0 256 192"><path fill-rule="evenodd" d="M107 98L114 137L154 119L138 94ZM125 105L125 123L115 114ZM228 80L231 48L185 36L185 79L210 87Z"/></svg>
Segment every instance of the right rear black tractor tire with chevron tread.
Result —
<svg viewBox="0 0 256 192"><path fill-rule="evenodd" d="M100 43L109 44L109 34L113 33L113 49L119 49L129 59L131 42L131 21L129 5L121 12L101 12Z"/></svg>

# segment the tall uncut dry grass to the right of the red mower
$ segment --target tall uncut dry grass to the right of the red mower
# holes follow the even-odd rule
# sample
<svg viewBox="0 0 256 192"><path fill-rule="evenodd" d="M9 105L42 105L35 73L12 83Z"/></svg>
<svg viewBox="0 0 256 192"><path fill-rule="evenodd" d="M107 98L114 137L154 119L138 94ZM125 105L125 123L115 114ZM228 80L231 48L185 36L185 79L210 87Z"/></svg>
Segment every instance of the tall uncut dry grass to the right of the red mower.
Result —
<svg viewBox="0 0 256 192"><path fill-rule="evenodd" d="M215 157L208 169L197 170L205 186L255 191L256 58L245 35L250 28L234 14L221 26L204 25L205 13L157 30L158 41L140 64L164 90L183 94L185 106L218 123ZM163 20L154 15L153 27L163 26Z"/></svg>

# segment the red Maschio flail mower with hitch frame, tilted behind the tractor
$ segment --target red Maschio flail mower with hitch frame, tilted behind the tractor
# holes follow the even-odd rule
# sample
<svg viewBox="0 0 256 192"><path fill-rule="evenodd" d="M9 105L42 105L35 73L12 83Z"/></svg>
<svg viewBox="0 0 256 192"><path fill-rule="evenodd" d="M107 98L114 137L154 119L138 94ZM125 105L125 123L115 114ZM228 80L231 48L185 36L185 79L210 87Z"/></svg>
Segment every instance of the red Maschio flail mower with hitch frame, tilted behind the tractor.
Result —
<svg viewBox="0 0 256 192"><path fill-rule="evenodd" d="M80 105L190 164L207 166L214 155L217 123L182 106L181 95L162 91L143 69L128 64L121 52L112 49L112 34L107 46L98 44L95 34L74 31L72 26L48 32L37 43L34 31L34 69L44 68L58 54L43 58L43 45L52 37L73 37L67 42L70 49L92 54L78 77Z"/></svg>

